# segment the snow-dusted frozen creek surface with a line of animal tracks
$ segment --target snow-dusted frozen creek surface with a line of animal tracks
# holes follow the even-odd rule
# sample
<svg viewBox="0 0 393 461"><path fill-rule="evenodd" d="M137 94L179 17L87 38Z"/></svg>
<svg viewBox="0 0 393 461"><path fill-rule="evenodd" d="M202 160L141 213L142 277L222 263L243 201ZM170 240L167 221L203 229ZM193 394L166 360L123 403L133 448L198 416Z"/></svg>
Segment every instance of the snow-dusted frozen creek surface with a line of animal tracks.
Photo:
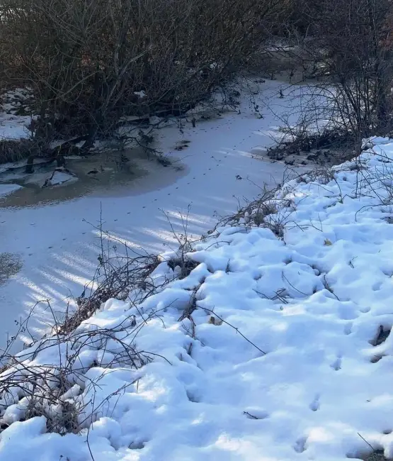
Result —
<svg viewBox="0 0 393 461"><path fill-rule="evenodd" d="M170 185L160 187L159 177L152 182L147 177L119 193L96 191L64 203L0 209L0 253L16 254L23 261L21 271L0 287L0 346L6 333L17 330L15 320L38 301L48 299L54 311L62 311L90 282L100 250L92 224L99 223L101 209L103 227L130 248L162 252L175 242L164 212L181 233L181 214L190 206L188 232L200 235L215 225L217 216L235 211L239 201L256 196L264 183L283 182L287 166L263 161L260 155L261 148L272 144L270 136L281 123L272 110L281 115L291 111L291 104L299 104L293 97L280 99L281 87L281 82L256 79L244 88L239 113L199 121L195 128L183 121L181 130L177 123L159 130L159 150L180 157L186 168L186 174L179 174ZM9 117L0 133L17 138L24 133L19 123L24 118ZM176 143L182 140L190 143L178 152ZM159 174L164 177L168 170L161 168ZM40 312L41 307L47 304L36 306L38 316L51 323L52 312Z"/></svg>

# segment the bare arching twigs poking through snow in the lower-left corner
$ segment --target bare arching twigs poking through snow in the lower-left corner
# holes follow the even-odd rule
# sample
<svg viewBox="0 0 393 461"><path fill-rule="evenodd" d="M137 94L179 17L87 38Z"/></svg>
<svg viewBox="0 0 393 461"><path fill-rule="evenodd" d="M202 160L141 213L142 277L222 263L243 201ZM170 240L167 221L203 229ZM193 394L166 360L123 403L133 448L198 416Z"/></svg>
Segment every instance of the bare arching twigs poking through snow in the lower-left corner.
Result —
<svg viewBox="0 0 393 461"><path fill-rule="evenodd" d="M79 433L105 414L103 404L111 397L96 402L96 388L104 373L89 379L86 372L93 367L138 369L154 357L137 350L135 338L142 325L137 325L135 316L127 316L110 329L82 324L65 332L62 326L57 327L62 333L40 340L18 355L4 352L0 431L14 421L45 416L48 432Z"/></svg>

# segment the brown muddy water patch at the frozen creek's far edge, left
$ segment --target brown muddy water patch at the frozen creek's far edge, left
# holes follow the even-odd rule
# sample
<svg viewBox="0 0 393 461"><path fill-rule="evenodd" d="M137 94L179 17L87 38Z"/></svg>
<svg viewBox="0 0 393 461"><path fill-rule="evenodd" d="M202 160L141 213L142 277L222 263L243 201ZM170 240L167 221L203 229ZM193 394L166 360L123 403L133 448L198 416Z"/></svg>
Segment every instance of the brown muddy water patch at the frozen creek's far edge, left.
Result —
<svg viewBox="0 0 393 461"><path fill-rule="evenodd" d="M89 157L68 157L66 167L77 180L42 187L55 170L54 164L36 165L33 174L23 169L0 174L0 184L18 184L22 188L0 197L0 208L43 206L77 199L81 196L125 196L161 189L186 173L185 167L171 158L164 167L157 157L134 148L123 152L101 152Z"/></svg>

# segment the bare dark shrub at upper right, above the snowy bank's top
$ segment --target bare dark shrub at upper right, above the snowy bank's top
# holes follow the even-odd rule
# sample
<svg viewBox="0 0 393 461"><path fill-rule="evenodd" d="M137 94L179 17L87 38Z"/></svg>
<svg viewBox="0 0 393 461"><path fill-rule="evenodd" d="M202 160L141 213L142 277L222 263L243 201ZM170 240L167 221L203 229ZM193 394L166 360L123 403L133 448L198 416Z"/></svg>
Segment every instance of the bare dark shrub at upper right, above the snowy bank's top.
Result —
<svg viewBox="0 0 393 461"><path fill-rule="evenodd" d="M312 35L307 49L313 69L304 78L314 80L302 94L299 124L347 133L359 155L362 138L392 130L392 2L300 0L298 4Z"/></svg>

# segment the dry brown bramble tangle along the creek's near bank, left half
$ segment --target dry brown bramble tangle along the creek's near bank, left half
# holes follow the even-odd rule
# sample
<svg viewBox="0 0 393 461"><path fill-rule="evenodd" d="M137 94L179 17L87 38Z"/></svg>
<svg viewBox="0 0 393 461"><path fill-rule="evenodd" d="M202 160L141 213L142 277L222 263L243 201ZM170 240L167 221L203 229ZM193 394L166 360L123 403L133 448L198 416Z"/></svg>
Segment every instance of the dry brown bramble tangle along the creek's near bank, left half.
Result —
<svg viewBox="0 0 393 461"><path fill-rule="evenodd" d="M106 404L113 396L126 390L116 389L96 403L96 392L105 377L102 369L138 370L158 356L137 348L142 328L152 318L160 318L159 311L144 313L139 305L198 265L186 255L191 248L187 230L179 237L183 246L168 261L156 255L137 255L106 233L102 225L97 230L101 233L98 268L91 284L76 298L76 311L67 309L62 318L57 318L50 302L44 301L53 315L52 332L40 340L31 336L31 343L16 355L11 352L18 338L15 335L1 353L0 432L14 421L45 416L47 432L81 433L106 415ZM156 277L154 271L160 264L169 271ZM126 301L130 309L118 324L101 328L87 321L113 298ZM30 334L28 322L29 318L20 324L19 333L25 336ZM86 377L93 368L99 371L97 377Z"/></svg>

